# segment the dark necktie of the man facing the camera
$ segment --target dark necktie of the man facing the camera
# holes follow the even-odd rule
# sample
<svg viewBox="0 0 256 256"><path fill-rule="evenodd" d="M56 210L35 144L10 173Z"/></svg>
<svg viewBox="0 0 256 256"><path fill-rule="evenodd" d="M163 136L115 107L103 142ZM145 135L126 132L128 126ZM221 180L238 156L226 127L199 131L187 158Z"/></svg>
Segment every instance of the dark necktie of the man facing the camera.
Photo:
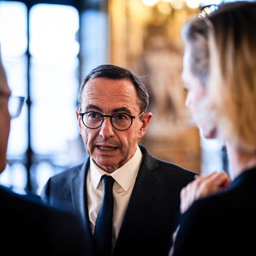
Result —
<svg viewBox="0 0 256 256"><path fill-rule="evenodd" d="M111 255L112 225L113 225L113 184L111 176L101 177L103 183L103 202L98 212L94 229L94 242L97 256Z"/></svg>

